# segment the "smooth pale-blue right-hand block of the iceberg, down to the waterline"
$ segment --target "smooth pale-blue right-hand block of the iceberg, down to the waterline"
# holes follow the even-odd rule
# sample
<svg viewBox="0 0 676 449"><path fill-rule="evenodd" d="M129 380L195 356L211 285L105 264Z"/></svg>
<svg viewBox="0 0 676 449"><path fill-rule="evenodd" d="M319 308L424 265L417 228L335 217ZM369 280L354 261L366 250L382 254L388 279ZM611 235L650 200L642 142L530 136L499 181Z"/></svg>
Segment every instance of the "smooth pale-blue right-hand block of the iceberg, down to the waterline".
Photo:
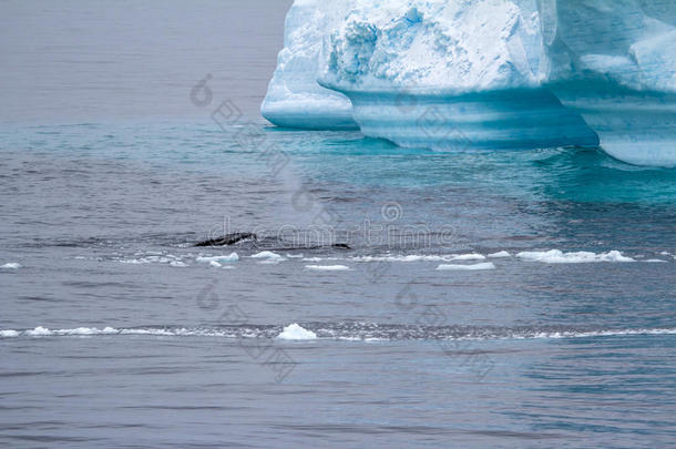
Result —
<svg viewBox="0 0 676 449"><path fill-rule="evenodd" d="M611 155L676 165L676 1L542 1L547 89Z"/></svg>

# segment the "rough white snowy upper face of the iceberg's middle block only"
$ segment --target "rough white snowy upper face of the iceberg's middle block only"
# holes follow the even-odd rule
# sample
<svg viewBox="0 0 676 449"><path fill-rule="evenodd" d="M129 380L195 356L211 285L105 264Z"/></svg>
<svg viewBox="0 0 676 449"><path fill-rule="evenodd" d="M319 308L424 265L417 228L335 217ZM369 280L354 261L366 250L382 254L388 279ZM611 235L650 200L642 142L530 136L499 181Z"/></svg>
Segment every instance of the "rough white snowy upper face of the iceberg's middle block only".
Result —
<svg viewBox="0 0 676 449"><path fill-rule="evenodd" d="M534 0L347 1L319 80L339 90L461 93L539 85Z"/></svg>

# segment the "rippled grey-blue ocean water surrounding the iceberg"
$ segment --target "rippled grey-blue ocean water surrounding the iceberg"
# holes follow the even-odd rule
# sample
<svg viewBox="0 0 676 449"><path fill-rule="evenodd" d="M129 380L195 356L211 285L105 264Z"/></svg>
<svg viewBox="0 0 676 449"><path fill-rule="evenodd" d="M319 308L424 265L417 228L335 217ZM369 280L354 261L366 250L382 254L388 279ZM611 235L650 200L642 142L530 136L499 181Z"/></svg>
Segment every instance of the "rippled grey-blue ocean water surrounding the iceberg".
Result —
<svg viewBox="0 0 676 449"><path fill-rule="evenodd" d="M2 446L673 447L676 171L272 127L287 7L3 3Z"/></svg>

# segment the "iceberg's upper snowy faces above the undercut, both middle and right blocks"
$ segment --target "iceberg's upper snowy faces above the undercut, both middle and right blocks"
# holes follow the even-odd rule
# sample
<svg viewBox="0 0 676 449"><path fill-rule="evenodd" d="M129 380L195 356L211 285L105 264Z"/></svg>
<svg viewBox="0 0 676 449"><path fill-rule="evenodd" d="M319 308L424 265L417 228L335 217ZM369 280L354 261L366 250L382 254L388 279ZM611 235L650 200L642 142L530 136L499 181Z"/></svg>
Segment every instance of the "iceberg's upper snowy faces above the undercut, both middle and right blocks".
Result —
<svg viewBox="0 0 676 449"><path fill-rule="evenodd" d="M597 76L676 92L673 0L340 2L325 28L325 84L468 92Z"/></svg>

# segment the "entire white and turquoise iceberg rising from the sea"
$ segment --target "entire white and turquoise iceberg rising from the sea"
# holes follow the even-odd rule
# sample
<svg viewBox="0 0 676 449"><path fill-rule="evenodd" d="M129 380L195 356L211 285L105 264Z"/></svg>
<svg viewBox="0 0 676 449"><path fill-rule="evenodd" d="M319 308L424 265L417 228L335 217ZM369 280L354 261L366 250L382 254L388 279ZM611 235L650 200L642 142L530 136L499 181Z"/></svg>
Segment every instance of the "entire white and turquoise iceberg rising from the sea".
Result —
<svg viewBox="0 0 676 449"><path fill-rule="evenodd" d="M675 44L672 0L296 0L262 112L402 146L674 166Z"/></svg>

